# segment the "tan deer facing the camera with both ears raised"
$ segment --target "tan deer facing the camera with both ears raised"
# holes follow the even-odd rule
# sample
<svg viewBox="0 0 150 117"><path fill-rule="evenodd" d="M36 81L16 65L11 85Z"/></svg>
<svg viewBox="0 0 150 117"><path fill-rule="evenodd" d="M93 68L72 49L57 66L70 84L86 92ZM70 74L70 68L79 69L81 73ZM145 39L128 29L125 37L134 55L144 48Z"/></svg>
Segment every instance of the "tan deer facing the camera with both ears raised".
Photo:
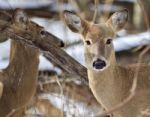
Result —
<svg viewBox="0 0 150 117"><path fill-rule="evenodd" d="M128 10L117 11L106 22L98 24L91 23L67 10L63 12L63 17L67 27L81 35L89 87L96 100L107 112L130 95L135 70L138 67L138 64L118 64L112 43L116 33L123 29L128 21ZM141 63L136 94L110 116L139 117L144 110L150 112L150 92L146 92L150 89L149 76L150 65Z"/></svg>

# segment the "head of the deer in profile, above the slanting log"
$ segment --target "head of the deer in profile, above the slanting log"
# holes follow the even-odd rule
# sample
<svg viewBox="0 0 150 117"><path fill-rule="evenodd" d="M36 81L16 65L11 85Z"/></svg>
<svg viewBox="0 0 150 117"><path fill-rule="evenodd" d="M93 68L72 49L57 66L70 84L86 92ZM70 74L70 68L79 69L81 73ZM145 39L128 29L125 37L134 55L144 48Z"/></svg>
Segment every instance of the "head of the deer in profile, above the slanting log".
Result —
<svg viewBox="0 0 150 117"><path fill-rule="evenodd" d="M54 39L50 33L44 30L44 28L28 18L27 14L22 9L16 9L12 17L12 28L18 33L24 33L24 35L29 35L34 42L35 40L47 40L51 38L51 41L56 43L57 47L64 47L64 43L61 40Z"/></svg>

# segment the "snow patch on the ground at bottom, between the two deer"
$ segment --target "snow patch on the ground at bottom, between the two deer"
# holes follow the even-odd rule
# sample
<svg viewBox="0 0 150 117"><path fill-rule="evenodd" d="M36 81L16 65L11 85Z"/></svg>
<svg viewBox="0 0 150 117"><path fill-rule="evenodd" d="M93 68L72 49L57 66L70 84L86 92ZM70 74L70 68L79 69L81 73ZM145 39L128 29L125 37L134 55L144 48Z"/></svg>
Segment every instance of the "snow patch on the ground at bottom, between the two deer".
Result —
<svg viewBox="0 0 150 117"><path fill-rule="evenodd" d="M42 94L39 98L48 99L50 103L57 108L64 110L67 117L72 117L73 115L75 117L94 117L94 114L102 111L96 106L90 107L83 102L75 102L74 100L68 99L68 97L60 94Z"/></svg>

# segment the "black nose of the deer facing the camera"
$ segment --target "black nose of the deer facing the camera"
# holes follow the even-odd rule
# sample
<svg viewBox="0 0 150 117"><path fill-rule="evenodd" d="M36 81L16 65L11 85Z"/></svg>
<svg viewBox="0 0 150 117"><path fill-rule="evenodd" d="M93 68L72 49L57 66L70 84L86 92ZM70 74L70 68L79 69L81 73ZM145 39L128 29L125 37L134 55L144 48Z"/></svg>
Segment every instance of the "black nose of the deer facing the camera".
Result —
<svg viewBox="0 0 150 117"><path fill-rule="evenodd" d="M97 59L93 62L93 67L95 69L103 69L104 67L106 67L106 62L104 60Z"/></svg>

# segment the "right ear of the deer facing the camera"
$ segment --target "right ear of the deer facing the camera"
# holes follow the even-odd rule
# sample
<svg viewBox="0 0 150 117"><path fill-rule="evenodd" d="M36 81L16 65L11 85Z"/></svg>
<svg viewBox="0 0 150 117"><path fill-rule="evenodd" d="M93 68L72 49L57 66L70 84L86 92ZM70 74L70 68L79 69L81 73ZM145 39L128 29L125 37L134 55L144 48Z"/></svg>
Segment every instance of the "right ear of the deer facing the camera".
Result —
<svg viewBox="0 0 150 117"><path fill-rule="evenodd" d="M123 9L114 13L107 21L109 25L115 30L119 31L124 28L126 22L128 21L128 10Z"/></svg>

